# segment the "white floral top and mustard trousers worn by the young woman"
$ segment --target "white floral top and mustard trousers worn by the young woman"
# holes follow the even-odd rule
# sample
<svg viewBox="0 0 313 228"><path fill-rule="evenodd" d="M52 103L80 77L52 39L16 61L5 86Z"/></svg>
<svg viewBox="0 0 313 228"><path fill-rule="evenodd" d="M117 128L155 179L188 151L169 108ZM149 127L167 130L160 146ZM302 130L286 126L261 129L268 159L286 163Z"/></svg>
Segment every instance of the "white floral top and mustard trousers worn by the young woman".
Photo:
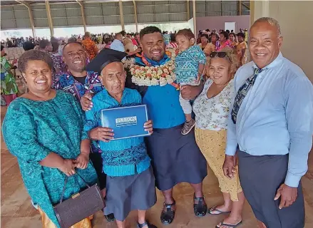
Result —
<svg viewBox="0 0 313 228"><path fill-rule="evenodd" d="M234 82L231 80L219 94L207 98L207 90L212 83L212 80L205 82L202 93L193 103L195 140L217 177L220 190L229 193L232 201L237 201L237 194L242 192L237 172L234 178L228 179L222 170L225 160L227 119L232 98L235 96Z"/></svg>

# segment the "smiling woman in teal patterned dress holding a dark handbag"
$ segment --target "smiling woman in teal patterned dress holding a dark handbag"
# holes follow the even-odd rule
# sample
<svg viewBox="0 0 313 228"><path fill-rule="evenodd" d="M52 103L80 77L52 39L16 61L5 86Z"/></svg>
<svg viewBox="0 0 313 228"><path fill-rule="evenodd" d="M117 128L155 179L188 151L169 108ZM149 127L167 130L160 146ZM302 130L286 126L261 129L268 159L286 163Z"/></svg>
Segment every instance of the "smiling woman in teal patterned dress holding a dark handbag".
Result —
<svg viewBox="0 0 313 228"><path fill-rule="evenodd" d="M90 140L83 131L81 106L73 95L51 89L52 67L50 56L42 51L26 51L19 58L29 93L11 103L2 126L26 190L43 215L43 227L49 228L60 227L53 205L61 198L66 176L64 199L86 187L76 172L91 185L97 178L88 160ZM80 227L91 227L86 220Z"/></svg>

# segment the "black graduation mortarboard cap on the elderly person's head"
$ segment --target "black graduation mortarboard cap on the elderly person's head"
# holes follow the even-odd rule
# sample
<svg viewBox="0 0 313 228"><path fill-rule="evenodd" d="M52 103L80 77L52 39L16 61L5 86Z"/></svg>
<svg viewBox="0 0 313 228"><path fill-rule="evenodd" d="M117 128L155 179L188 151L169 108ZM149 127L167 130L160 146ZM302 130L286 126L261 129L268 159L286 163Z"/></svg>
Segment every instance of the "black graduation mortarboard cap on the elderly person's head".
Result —
<svg viewBox="0 0 313 228"><path fill-rule="evenodd" d="M127 53L103 48L93 60L86 66L86 71L100 73L102 69L110 63L121 62Z"/></svg>

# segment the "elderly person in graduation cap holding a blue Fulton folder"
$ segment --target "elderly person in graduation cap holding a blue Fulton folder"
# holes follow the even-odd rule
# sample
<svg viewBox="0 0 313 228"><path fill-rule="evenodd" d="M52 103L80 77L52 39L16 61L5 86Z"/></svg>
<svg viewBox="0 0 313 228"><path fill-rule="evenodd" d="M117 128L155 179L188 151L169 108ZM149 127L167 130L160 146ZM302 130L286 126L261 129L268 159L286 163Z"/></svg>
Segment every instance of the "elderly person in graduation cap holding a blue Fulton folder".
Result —
<svg viewBox="0 0 313 228"><path fill-rule="evenodd" d="M99 72L104 89L93 96L93 106L86 112L85 130L91 140L98 140L106 173L105 214L114 214L118 228L125 228L130 211L138 211L138 228L156 228L145 220L145 212L156 202L155 177L143 137L111 140L111 128L101 127L102 109L140 104L137 90L125 88L126 73L120 62L127 53L104 48L86 66ZM143 126L152 133L151 120Z"/></svg>

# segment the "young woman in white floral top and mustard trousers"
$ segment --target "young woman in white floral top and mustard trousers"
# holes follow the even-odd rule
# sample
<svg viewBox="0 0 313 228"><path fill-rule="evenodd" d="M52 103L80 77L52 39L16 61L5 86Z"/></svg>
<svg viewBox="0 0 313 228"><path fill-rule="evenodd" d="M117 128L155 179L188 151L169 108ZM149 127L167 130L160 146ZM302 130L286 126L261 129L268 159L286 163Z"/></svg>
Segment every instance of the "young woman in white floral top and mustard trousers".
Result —
<svg viewBox="0 0 313 228"><path fill-rule="evenodd" d="M224 197L224 204L212 207L209 214L229 214L217 227L237 227L242 222L245 202L237 172L232 179L225 177L227 118L235 89L232 77L236 71L236 56L231 48L210 54L208 76L202 93L195 99L195 139L202 154L215 173ZM236 168L237 170L237 168Z"/></svg>

